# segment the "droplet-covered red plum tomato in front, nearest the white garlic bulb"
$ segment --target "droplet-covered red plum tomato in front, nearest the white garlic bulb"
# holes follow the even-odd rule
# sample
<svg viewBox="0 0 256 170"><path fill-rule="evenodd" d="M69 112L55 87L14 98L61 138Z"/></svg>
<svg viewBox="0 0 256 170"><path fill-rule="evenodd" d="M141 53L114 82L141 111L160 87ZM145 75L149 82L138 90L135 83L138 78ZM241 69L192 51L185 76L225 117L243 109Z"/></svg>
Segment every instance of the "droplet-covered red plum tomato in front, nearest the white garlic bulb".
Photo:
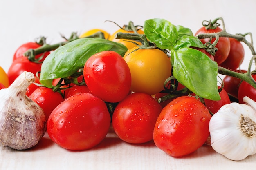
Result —
<svg viewBox="0 0 256 170"><path fill-rule="evenodd" d="M173 157L190 154L209 136L211 114L195 97L177 97L163 108L155 124L155 145Z"/></svg>

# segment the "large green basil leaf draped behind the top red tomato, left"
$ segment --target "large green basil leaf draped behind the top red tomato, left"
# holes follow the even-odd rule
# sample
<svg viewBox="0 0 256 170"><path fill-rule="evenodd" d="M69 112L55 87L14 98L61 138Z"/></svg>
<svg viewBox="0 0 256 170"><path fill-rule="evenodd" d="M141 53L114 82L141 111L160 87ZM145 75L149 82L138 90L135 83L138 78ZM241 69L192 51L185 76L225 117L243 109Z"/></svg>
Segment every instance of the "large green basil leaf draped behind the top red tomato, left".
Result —
<svg viewBox="0 0 256 170"><path fill-rule="evenodd" d="M127 48L123 44L102 38L79 38L58 47L45 58L41 67L40 83L52 87L53 79L69 77L83 68L89 57L106 50L124 56Z"/></svg>

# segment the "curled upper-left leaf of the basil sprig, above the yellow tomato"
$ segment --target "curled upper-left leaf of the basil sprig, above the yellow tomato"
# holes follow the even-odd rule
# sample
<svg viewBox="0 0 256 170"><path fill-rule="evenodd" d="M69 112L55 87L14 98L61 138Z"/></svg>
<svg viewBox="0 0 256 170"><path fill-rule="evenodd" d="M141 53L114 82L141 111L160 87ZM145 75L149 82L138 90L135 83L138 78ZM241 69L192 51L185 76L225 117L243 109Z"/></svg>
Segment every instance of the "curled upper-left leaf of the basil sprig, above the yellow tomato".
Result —
<svg viewBox="0 0 256 170"><path fill-rule="evenodd" d="M164 19L146 20L143 29L148 40L161 49L172 49L178 39L176 26Z"/></svg>

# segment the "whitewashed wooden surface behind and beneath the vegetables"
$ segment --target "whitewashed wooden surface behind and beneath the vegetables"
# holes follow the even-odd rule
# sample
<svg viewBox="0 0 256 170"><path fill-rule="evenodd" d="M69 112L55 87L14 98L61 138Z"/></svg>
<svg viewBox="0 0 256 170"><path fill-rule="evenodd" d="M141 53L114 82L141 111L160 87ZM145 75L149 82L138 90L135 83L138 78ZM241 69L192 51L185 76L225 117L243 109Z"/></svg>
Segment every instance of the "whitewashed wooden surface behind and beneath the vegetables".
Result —
<svg viewBox="0 0 256 170"><path fill-rule="evenodd" d="M164 18L189 27L193 33L203 20L223 17L229 33L252 32L256 41L256 1L253 0L9 0L0 1L0 66L8 71L14 51L22 43L46 36L49 44L60 42L88 29L101 28L113 33L120 24ZM134 8L134 9L132 9ZM245 47L247 69L250 51ZM230 141L232 142L232 141ZM110 129L107 137L86 151L69 151L54 144L47 134L34 148L18 151L0 147L0 170L225 170L253 169L256 155L231 161L204 145L182 158L159 150L153 141L128 144Z"/></svg>

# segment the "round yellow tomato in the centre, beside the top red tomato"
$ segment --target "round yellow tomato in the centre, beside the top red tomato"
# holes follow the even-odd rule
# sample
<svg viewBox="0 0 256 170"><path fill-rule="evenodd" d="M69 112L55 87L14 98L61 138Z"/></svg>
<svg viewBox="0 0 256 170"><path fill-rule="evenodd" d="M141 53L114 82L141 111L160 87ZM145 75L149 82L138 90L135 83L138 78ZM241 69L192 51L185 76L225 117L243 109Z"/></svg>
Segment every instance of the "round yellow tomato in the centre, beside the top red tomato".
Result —
<svg viewBox="0 0 256 170"><path fill-rule="evenodd" d="M132 76L131 91L149 95L164 89L165 80L171 76L171 61L159 49L132 48L124 55ZM133 52L132 52L133 51Z"/></svg>

